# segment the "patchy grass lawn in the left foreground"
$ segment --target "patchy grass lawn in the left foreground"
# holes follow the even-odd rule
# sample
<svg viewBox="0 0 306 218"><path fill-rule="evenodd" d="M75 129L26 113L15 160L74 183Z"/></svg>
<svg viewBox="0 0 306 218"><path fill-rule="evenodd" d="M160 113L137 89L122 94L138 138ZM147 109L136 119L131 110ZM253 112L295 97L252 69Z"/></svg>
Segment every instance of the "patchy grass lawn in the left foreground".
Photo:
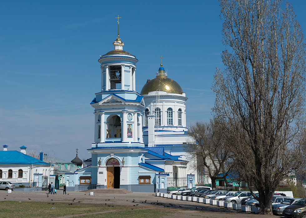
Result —
<svg viewBox="0 0 306 218"><path fill-rule="evenodd" d="M55 207L55 209L52 209ZM156 209L137 209L131 206L114 205L108 207L102 204L81 204L73 203L68 205L64 202L55 202L54 205L46 202L18 202L18 201L1 201L0 214L1 218L48 218L48 217L64 217L68 215L80 215L78 218L98 218L98 217L125 217L125 218L152 218L160 217L171 213L158 208ZM102 212L96 213L95 212Z"/></svg>

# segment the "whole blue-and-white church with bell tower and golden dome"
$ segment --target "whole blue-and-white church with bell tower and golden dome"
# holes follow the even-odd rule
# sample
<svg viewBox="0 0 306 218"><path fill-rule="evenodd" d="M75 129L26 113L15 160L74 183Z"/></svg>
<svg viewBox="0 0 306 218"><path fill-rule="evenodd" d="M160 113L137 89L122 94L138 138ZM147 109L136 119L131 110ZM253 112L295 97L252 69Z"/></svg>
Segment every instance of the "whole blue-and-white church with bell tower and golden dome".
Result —
<svg viewBox="0 0 306 218"><path fill-rule="evenodd" d="M138 59L123 50L117 18L114 50L98 60L101 90L91 102L95 115L94 143L87 149L91 159L74 173L75 180L79 185L132 192L193 187L197 173L184 152L189 137L186 94L168 78L162 64L156 77L137 92Z"/></svg>

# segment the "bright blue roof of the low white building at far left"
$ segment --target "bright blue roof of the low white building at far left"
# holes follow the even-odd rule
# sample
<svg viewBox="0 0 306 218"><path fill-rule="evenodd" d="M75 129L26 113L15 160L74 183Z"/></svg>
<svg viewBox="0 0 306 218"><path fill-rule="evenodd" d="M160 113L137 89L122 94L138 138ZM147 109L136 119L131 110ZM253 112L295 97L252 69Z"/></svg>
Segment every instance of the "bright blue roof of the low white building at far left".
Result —
<svg viewBox="0 0 306 218"><path fill-rule="evenodd" d="M0 164L46 164L44 161L23 154L19 151L0 151Z"/></svg>

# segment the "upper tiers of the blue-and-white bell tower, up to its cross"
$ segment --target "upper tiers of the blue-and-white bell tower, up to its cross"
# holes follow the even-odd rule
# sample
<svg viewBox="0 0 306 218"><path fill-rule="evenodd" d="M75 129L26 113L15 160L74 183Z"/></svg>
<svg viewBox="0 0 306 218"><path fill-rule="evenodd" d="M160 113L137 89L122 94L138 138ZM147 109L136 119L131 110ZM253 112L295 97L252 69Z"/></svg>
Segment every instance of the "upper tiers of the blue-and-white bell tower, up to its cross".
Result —
<svg viewBox="0 0 306 218"><path fill-rule="evenodd" d="M101 91L91 102L95 108L95 143L98 147L144 147L142 139L143 97L136 92L135 72L138 60L123 50L124 43L118 34L114 50L100 55ZM110 144L111 143L111 144Z"/></svg>

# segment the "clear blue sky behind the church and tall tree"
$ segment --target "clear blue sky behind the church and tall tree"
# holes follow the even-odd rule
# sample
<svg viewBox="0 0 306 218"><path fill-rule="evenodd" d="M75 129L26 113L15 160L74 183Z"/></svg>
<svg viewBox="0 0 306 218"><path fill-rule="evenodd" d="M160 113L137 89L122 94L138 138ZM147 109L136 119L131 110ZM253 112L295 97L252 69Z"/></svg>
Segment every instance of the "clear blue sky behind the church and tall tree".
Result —
<svg viewBox="0 0 306 218"><path fill-rule="evenodd" d="M291 1L301 26L306 1ZM71 161L94 137L91 100L101 88L99 55L113 50L117 19L124 50L139 60L136 90L164 57L186 92L187 124L211 117L211 84L222 68L217 1L1 1L0 149L27 149Z"/></svg>

